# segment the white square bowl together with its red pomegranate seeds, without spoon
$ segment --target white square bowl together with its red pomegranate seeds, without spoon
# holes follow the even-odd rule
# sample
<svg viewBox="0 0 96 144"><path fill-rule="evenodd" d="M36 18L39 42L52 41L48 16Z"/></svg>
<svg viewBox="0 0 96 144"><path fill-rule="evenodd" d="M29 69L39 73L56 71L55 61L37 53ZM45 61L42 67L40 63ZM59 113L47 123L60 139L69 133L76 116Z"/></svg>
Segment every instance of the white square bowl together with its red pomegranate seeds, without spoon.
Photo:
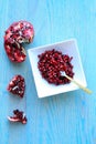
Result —
<svg viewBox="0 0 96 144"><path fill-rule="evenodd" d="M77 90L66 76L86 86L86 79L75 39L28 50L39 97Z"/></svg>

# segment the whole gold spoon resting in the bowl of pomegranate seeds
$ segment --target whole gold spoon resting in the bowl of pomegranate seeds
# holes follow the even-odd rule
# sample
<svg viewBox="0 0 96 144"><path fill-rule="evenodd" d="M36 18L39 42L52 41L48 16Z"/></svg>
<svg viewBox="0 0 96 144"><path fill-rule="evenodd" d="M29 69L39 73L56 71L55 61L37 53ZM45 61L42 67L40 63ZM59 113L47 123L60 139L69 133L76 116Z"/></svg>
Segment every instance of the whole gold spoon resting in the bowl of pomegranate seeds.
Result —
<svg viewBox="0 0 96 144"><path fill-rule="evenodd" d="M78 83L76 80L74 80L71 76L66 75L66 73L64 71L61 71L61 75L67 78L72 82L74 82L78 88L81 88L82 90L84 90L86 93L92 94L92 91L89 89L85 88L84 85L82 85L81 83Z"/></svg>

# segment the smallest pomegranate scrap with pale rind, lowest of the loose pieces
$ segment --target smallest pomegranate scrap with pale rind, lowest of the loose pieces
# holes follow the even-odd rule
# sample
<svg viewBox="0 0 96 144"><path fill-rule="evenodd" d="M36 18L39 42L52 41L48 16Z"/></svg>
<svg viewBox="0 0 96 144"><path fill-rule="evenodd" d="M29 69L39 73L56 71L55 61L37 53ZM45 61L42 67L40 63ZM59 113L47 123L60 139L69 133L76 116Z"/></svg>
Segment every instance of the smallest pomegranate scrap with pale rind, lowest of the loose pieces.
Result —
<svg viewBox="0 0 96 144"><path fill-rule="evenodd" d="M22 124L25 124L28 121L25 114L19 110L14 110L13 116L8 116L8 120L11 122L21 122Z"/></svg>

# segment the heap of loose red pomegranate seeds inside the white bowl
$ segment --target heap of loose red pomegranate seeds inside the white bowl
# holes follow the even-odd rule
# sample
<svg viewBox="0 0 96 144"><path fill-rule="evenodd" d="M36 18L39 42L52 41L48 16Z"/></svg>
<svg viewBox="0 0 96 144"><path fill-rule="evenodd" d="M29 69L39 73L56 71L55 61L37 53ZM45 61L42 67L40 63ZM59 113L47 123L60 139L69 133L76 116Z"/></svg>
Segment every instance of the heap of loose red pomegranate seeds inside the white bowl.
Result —
<svg viewBox="0 0 96 144"><path fill-rule="evenodd" d="M66 84L71 81L65 76L61 75L61 71L73 78L73 65L71 63L72 56L63 54L61 51L55 49L47 50L39 55L38 68L41 72L42 78L44 78L49 83L60 85Z"/></svg>

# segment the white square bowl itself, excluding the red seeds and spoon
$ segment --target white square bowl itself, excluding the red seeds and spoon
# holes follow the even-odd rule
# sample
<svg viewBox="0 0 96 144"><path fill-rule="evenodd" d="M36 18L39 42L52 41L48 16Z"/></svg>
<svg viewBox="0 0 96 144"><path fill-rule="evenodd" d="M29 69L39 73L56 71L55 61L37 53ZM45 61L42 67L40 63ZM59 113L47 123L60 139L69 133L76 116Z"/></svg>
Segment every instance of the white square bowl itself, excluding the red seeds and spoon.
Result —
<svg viewBox="0 0 96 144"><path fill-rule="evenodd" d="M28 50L38 96L45 97L45 96L51 96L58 93L65 93L78 89L78 86L72 82L70 84L64 84L64 85L54 85L47 83L47 81L42 78L38 69L38 61L39 61L38 55L43 53L45 50L52 50L52 49L62 51L63 54L68 54L70 56L73 56L72 64L74 66L73 71L75 73L74 79L78 81L81 84L83 84L84 86L86 86L87 84L86 84L85 74L81 62L77 42L75 39L71 39L54 44L32 48Z"/></svg>

